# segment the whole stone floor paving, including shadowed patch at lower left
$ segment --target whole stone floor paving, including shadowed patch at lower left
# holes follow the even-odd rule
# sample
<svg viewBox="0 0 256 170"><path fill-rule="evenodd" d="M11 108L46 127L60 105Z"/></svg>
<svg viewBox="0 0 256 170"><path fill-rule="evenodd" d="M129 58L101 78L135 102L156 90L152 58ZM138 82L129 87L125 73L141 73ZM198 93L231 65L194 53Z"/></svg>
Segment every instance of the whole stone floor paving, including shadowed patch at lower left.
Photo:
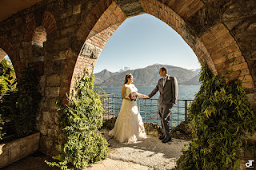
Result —
<svg viewBox="0 0 256 170"><path fill-rule="evenodd" d="M181 156L184 144L188 140L173 139L169 144L162 144L158 136L148 136L144 141L136 144L120 144L117 140L108 136L108 131L102 129L102 134L110 143L110 154L106 160L91 164L84 170L132 170L132 169L173 169L176 160ZM44 160L49 160L49 156L30 155L14 164L2 168L3 170L51 170L58 169L49 167Z"/></svg>

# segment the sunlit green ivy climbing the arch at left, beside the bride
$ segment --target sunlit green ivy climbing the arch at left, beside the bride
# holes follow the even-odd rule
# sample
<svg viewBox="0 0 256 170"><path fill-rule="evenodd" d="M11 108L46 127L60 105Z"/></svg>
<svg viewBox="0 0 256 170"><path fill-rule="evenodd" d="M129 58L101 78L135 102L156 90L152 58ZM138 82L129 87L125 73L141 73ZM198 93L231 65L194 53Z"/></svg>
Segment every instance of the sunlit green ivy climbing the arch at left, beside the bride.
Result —
<svg viewBox="0 0 256 170"><path fill-rule="evenodd" d="M108 143L98 131L102 127L102 102L98 93L94 92L93 82L94 74L86 71L68 98L69 105L60 105L63 113L61 125L67 141L62 146L61 154L54 156L59 162L46 161L50 166L66 169L72 164L82 169L108 156Z"/></svg>

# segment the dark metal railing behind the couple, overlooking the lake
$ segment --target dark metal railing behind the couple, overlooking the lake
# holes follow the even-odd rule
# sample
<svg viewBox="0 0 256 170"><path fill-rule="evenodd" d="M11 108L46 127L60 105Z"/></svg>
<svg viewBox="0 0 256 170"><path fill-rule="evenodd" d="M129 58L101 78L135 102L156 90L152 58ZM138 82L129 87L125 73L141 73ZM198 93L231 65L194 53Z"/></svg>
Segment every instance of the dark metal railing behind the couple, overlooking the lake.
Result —
<svg viewBox="0 0 256 170"><path fill-rule="evenodd" d="M102 97L102 106L104 108L103 119L108 120L117 117L122 105L122 97L114 97L114 93L107 93ZM182 121L187 121L188 107L191 103L190 99L178 100L178 104L174 105L170 115L170 128L174 128ZM161 125L158 114L158 99L138 98L138 111L142 116L143 122L154 122Z"/></svg>

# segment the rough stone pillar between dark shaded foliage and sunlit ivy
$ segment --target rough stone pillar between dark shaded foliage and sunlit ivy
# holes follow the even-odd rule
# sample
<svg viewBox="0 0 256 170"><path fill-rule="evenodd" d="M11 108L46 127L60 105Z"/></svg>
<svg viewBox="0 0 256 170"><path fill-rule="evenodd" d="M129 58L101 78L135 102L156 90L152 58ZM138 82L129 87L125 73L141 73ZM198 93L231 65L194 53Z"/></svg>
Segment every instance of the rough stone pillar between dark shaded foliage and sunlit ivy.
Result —
<svg viewBox="0 0 256 170"><path fill-rule="evenodd" d="M40 79L42 101L37 117L37 128L41 132L40 151L47 155L58 155L65 138L59 127L59 118L56 102L60 95L60 84L65 59L59 55L62 39L47 40L44 42L44 74ZM54 44L54 45L53 45Z"/></svg>

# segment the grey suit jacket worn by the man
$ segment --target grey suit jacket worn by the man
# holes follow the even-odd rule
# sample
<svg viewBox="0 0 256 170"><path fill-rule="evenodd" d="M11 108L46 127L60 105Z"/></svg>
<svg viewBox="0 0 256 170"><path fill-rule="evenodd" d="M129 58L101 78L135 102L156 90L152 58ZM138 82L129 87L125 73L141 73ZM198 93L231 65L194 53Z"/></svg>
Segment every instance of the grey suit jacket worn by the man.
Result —
<svg viewBox="0 0 256 170"><path fill-rule="evenodd" d="M166 84L162 86L163 78L160 78L158 81L158 85L154 88L154 90L149 94L149 97L153 97L155 93L159 90L158 104L171 105L177 104L178 98L178 82L176 77L171 77L167 75Z"/></svg>

